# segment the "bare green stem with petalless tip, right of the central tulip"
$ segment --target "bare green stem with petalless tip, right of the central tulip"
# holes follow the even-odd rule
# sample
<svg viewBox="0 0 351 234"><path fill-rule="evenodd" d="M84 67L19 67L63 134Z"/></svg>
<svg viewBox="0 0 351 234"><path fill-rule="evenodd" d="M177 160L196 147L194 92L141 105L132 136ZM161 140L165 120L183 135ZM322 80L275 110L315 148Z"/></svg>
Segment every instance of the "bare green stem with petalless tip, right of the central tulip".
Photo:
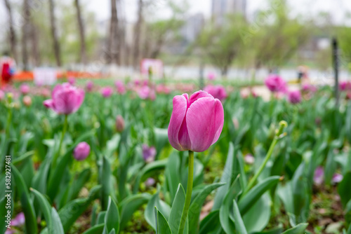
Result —
<svg viewBox="0 0 351 234"><path fill-rule="evenodd" d="M268 149L267 155L265 156L265 160L263 161L263 163L260 165L260 168L258 169L258 171L256 172L256 174L253 176L253 178L250 180L248 186L246 187L244 193L242 196L244 196L247 192L249 192L249 190L253 187L253 185L256 183L258 177L260 176L260 174L263 172L263 170L265 169L265 165L268 163L268 160L270 160L270 157L272 156L273 150L275 145L277 144L278 140L280 138L282 138L283 135L283 130L284 128L287 126L287 123L285 121L281 121L279 123L279 129L277 130L273 142L272 144L270 144L270 149Z"/></svg>

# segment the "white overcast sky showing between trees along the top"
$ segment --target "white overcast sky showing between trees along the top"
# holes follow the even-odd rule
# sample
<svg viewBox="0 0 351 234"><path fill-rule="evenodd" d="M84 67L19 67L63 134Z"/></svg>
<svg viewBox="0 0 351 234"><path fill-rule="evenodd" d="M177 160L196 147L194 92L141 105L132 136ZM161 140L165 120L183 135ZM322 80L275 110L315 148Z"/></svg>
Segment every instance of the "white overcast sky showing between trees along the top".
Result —
<svg viewBox="0 0 351 234"><path fill-rule="evenodd" d="M46 0L32 0L32 1L46 1ZM61 0L72 1L73 0ZM138 0L121 0L124 4L125 15L128 21L133 22L136 18ZM168 11L162 10L162 2L164 0L153 0L160 6L159 10L154 14L159 18L166 18ZM181 3L185 0L173 0ZM204 13L208 18L211 15L211 1L212 0L187 0L190 5L189 14ZM11 2L21 3L22 0L11 0ZM95 12L99 21L110 18L110 0L81 0L81 3L86 5L90 11ZM303 15L314 15L320 11L326 11L333 15L334 20L338 24L343 24L345 12L351 12L351 0L288 0L291 6L291 13ZM258 9L267 8L267 0L247 0L247 11L252 15ZM4 24L7 20L4 1L0 1L0 23Z"/></svg>

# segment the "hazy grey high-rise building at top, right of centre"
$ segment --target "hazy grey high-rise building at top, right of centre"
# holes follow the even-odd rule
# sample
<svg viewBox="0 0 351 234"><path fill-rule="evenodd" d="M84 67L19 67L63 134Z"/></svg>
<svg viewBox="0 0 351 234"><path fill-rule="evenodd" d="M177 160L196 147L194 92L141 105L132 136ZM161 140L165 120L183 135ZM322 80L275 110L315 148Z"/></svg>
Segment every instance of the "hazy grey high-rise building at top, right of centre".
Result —
<svg viewBox="0 0 351 234"><path fill-rule="evenodd" d="M241 14L246 18L246 0L212 0L212 19L222 25L227 14Z"/></svg>

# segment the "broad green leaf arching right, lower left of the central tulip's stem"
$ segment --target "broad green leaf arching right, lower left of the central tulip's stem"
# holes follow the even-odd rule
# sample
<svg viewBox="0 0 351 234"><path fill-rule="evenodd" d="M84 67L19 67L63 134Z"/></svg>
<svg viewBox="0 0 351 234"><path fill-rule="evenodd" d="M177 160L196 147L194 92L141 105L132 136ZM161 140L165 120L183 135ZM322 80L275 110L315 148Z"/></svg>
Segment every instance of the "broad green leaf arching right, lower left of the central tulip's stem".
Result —
<svg viewBox="0 0 351 234"><path fill-rule="evenodd" d="M151 198L151 195L148 193L130 195L124 200L121 201L120 209L121 209L121 227L123 230L124 226L128 221L131 220L134 212L138 210L142 205L148 202Z"/></svg>

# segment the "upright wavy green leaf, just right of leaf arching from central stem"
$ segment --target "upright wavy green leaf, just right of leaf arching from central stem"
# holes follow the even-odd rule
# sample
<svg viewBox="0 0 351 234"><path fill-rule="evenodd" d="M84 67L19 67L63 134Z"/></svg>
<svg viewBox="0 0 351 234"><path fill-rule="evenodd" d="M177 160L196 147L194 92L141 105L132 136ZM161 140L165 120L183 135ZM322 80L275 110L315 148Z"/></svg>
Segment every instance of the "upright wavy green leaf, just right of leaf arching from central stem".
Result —
<svg viewBox="0 0 351 234"><path fill-rule="evenodd" d="M239 184L239 175L237 179L234 180L232 185L230 186L229 191L225 195L222 205L220 206L220 225L223 230L227 234L235 233L234 223L230 220L230 209L232 207L232 202L237 198L239 193L241 192L240 184Z"/></svg>

